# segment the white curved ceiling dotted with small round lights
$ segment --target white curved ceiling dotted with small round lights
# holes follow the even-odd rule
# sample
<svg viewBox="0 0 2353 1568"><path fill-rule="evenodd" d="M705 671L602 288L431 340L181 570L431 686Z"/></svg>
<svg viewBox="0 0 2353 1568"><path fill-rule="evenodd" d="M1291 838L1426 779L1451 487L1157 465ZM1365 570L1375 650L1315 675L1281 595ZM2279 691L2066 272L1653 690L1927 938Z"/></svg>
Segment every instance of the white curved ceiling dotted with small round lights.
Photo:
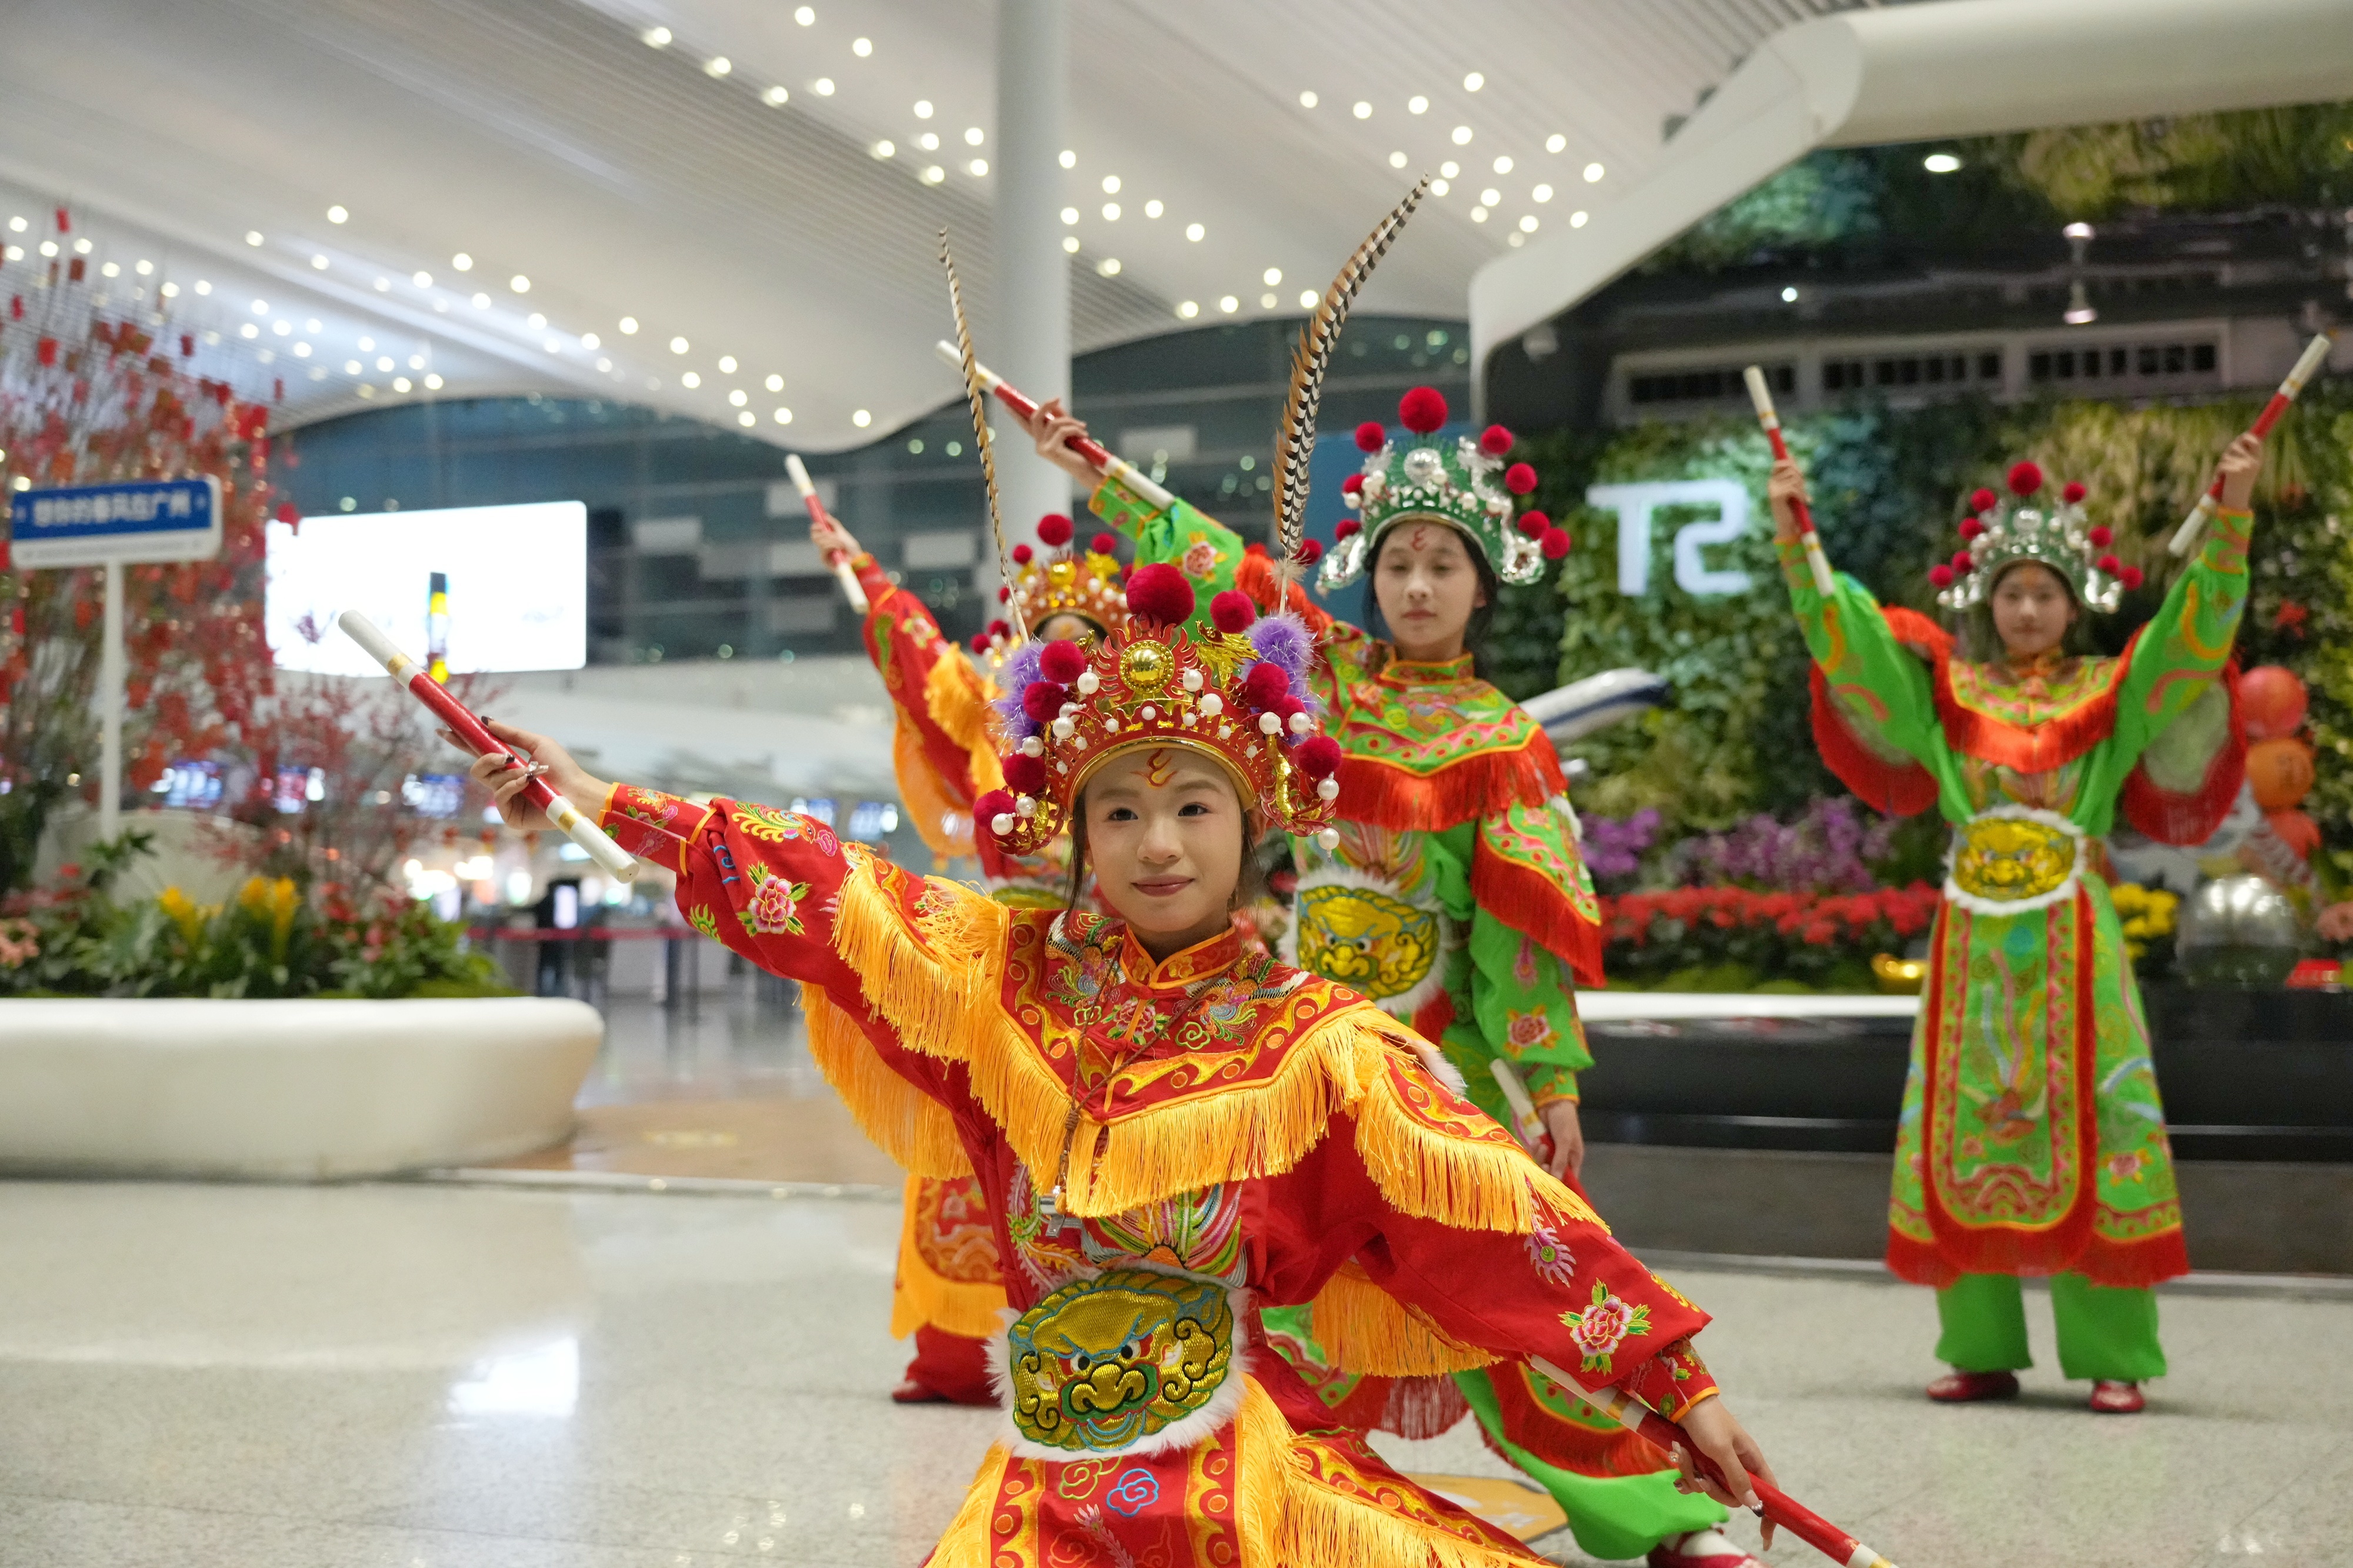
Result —
<svg viewBox="0 0 2353 1568"><path fill-rule="evenodd" d="M1459 174L1365 308L1461 315L1522 221L1598 209L1760 38L1852 2L1459 0L1440 21L1405 0L1073 0L1073 343L1212 322L1224 299L1297 313L1445 162ZM38 294L38 247L64 263L87 240L92 294L165 306L205 374L247 395L282 381L280 423L541 390L861 444L955 390L929 353L941 226L986 353L995 174L972 167L991 155L995 12L798 9L812 19L793 0L19 0L0 9L0 223L26 228L0 235L19 252L0 289Z"/></svg>

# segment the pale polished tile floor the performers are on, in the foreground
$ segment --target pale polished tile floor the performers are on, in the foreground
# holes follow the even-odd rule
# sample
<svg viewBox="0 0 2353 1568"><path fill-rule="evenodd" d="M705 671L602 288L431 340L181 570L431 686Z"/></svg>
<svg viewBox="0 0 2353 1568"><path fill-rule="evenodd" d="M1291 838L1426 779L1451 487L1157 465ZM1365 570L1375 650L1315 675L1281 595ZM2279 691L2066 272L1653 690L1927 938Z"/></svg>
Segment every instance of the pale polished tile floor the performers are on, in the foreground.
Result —
<svg viewBox="0 0 2353 1568"><path fill-rule="evenodd" d="M0 1185L0 1568L913 1566L993 1418L882 1399L894 1237L873 1199ZM1920 1291L1668 1274L1791 1493L1906 1568L2353 1561L2348 1302L2169 1298L2177 1375L2099 1420L2047 1373L1927 1406ZM1501 1474L1466 1432L1393 1458Z"/></svg>

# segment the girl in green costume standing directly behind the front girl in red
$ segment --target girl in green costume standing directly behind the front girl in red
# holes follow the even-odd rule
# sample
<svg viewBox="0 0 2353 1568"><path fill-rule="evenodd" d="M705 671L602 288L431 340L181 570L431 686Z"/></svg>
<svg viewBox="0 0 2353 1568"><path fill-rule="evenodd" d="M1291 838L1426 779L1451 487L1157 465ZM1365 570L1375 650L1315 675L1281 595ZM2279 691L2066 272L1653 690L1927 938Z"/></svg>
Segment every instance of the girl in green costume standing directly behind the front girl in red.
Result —
<svg viewBox="0 0 2353 1568"><path fill-rule="evenodd" d="M1322 567L1334 588L1369 569L1388 637L1332 621L1297 585L1285 595L1315 632L1313 679L1325 733L1344 750L1348 813L1334 849L1292 844L1297 961L1438 1041L1480 1110L1511 1126L1501 1063L1537 1107L1551 1168L1574 1180L1577 1072L1593 1060L1574 987L1602 978L1600 905L1551 741L1478 679L1468 654L1497 581L1534 581L1567 536L1541 512L1513 517L1534 470L1506 465L1506 430L1440 440L1447 407L1435 388L1407 393L1398 414L1398 440L1379 423L1358 430L1369 456L1346 491L1360 520L1341 524ZM1068 447L1085 425L1059 402L1038 411L1031 435L1040 456L1092 487L1092 510L1134 538L1139 567L1176 564L1212 614L1228 592L1278 607L1264 550L1184 501L1162 510L1099 475ZM1715 1530L1722 1507L1678 1493L1654 1450L1529 1366L1454 1373L1454 1387L1367 1378L1344 1371L1351 1356L1329 1354L1306 1319L1275 1309L1266 1328L1334 1425L1426 1436L1468 1403L1489 1448L1553 1493L1584 1552L1647 1554L1654 1568L1762 1568Z"/></svg>

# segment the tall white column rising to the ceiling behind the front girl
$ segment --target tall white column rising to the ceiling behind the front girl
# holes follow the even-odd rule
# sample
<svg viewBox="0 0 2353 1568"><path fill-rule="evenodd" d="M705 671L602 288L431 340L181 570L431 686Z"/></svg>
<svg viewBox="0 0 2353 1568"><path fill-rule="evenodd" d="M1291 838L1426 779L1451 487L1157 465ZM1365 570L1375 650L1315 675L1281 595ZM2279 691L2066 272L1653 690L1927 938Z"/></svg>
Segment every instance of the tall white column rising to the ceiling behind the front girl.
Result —
<svg viewBox="0 0 2353 1568"><path fill-rule="evenodd" d="M995 341L979 350L1040 402L1071 395L1071 259L1061 252L1068 85L1068 0L998 0ZM1031 451L1002 409L995 437L1005 538L1016 543L1035 536L1040 515L1071 510L1071 480ZM984 576L995 595L993 564Z"/></svg>

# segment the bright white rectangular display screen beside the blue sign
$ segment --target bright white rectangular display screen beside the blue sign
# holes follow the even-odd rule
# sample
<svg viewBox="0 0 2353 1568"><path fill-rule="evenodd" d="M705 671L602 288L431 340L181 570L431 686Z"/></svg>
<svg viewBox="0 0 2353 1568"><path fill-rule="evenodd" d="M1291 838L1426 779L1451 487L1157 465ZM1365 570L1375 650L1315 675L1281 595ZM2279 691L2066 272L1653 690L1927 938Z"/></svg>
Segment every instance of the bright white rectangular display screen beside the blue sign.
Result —
<svg viewBox="0 0 2353 1568"><path fill-rule="evenodd" d="M473 670L588 663L588 505L461 505L438 512L322 512L273 522L264 616L282 670L384 675L336 630L365 614L428 661L435 578L447 578L447 656Z"/></svg>

